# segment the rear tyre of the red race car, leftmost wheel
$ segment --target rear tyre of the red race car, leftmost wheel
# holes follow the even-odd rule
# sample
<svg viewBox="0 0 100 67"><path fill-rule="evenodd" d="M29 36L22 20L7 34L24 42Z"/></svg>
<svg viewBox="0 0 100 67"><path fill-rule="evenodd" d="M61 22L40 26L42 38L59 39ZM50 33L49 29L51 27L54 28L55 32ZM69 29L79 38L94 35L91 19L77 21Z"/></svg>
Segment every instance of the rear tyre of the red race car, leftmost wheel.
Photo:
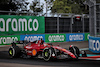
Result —
<svg viewBox="0 0 100 67"><path fill-rule="evenodd" d="M10 58L19 57L21 54L20 48L18 46L11 46L8 52L9 52Z"/></svg>

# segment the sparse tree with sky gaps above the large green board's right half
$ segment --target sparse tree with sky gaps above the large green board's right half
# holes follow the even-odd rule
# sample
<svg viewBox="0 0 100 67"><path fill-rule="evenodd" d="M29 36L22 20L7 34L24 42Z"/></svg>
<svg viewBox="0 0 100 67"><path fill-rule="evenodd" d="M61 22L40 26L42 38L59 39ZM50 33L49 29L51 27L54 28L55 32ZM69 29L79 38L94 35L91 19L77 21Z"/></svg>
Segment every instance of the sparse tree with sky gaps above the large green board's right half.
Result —
<svg viewBox="0 0 100 67"><path fill-rule="evenodd" d="M33 11L34 15L39 15L39 13L43 12L43 5L40 5L40 2L32 1L32 4L30 5L30 9Z"/></svg>

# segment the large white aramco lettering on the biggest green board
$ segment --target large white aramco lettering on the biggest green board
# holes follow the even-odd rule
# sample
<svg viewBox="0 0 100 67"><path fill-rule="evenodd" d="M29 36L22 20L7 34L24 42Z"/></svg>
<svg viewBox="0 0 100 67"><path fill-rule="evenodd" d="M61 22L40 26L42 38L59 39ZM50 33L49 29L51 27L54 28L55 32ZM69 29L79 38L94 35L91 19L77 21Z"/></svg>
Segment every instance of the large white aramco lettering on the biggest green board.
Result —
<svg viewBox="0 0 100 67"><path fill-rule="evenodd" d="M18 20L18 21L17 21ZM6 21L3 18L0 18L0 23L2 24L2 27L0 27L0 31L2 32L9 32L11 25L12 31L37 31L39 28L39 23L37 19L29 19L26 20L25 18L8 18Z"/></svg>

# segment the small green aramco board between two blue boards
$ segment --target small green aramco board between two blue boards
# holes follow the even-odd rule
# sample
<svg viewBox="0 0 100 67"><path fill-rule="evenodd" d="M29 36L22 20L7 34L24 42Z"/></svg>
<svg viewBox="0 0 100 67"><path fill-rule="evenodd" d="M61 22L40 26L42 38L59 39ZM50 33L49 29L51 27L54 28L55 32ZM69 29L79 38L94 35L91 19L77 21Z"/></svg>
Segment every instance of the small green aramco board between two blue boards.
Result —
<svg viewBox="0 0 100 67"><path fill-rule="evenodd" d="M65 42L66 34L45 34L45 42Z"/></svg>

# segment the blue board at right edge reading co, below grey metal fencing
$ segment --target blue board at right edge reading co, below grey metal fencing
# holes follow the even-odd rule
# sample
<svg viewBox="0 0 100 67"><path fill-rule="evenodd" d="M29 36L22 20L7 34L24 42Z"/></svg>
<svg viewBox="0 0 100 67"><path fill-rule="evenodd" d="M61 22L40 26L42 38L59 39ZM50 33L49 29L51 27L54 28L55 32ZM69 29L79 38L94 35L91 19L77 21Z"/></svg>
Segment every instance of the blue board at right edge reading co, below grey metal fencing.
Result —
<svg viewBox="0 0 100 67"><path fill-rule="evenodd" d="M89 36L89 50L94 53L100 53L100 37Z"/></svg>

